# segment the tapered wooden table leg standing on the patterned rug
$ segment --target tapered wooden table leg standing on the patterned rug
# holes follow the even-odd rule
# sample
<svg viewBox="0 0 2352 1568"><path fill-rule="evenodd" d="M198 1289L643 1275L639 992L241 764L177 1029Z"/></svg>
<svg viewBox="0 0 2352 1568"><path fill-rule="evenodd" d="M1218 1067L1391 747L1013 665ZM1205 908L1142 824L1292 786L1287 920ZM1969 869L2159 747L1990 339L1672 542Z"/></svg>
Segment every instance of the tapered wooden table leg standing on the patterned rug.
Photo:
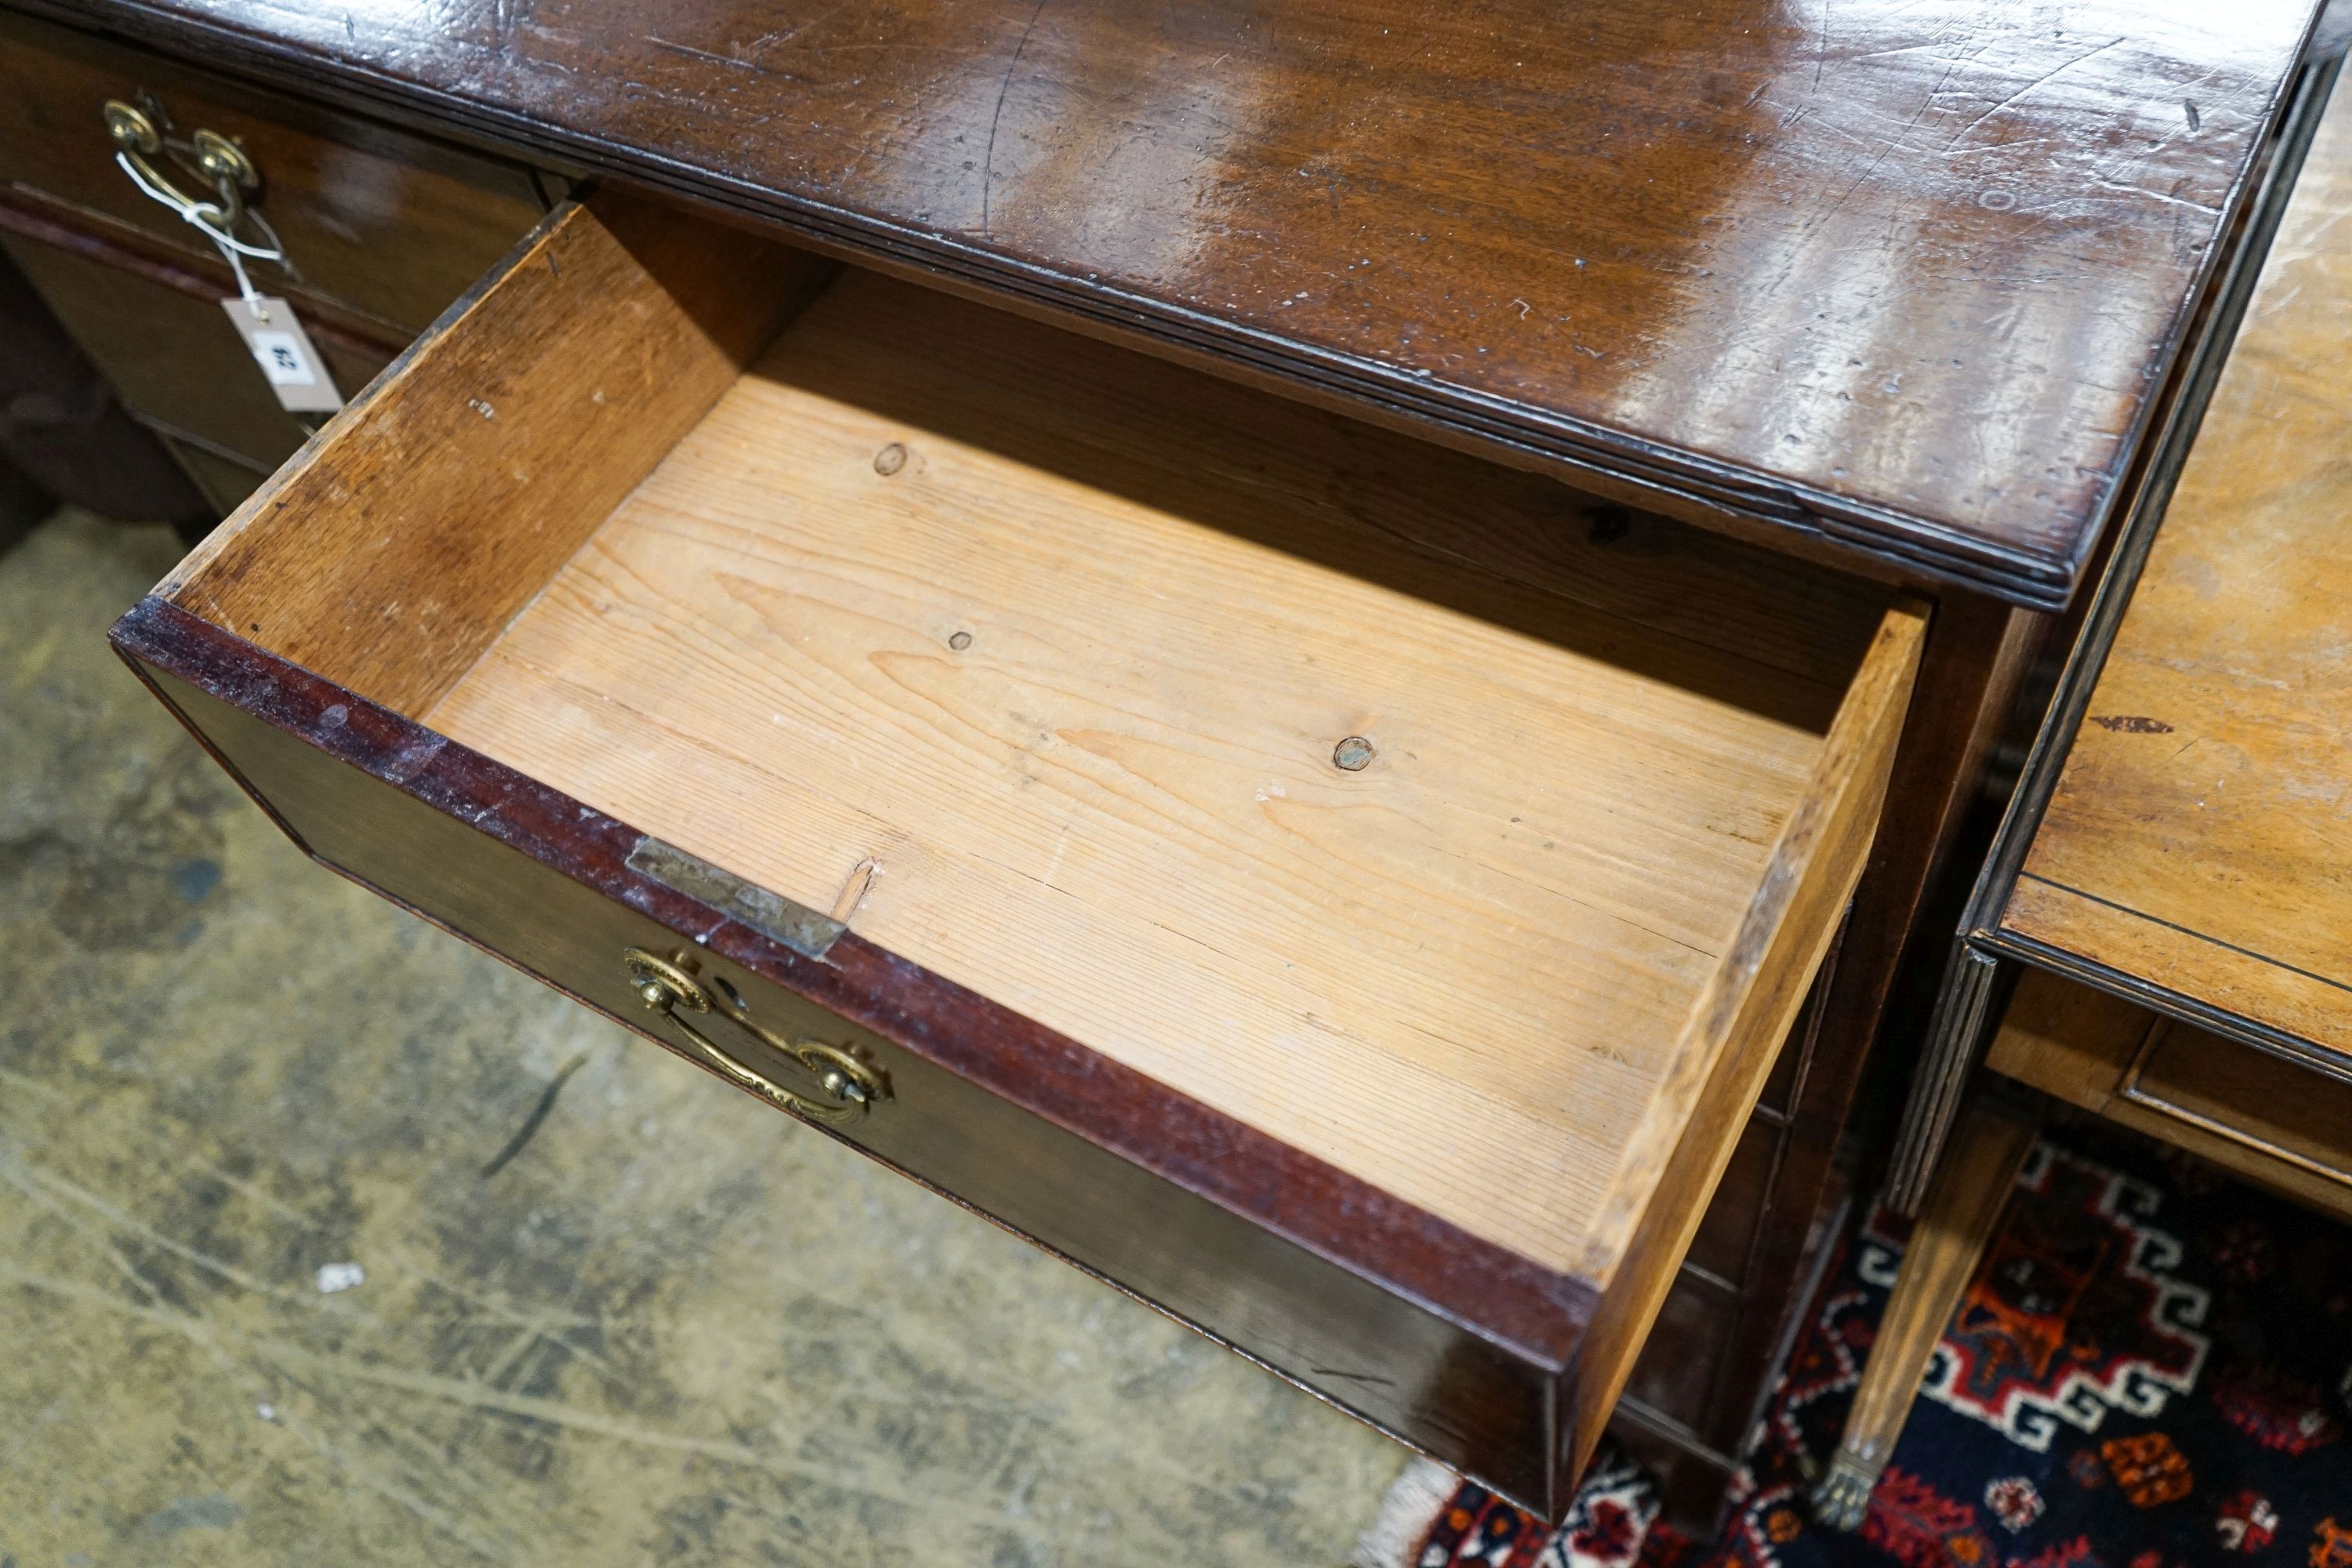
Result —
<svg viewBox="0 0 2352 1568"><path fill-rule="evenodd" d="M1820 1523L1851 1530L1870 1509L1870 1488L1886 1469L1936 1340L1985 1255L2032 1143L2032 1124L2006 1107L1980 1103L1964 1114L1903 1251L1903 1272L1846 1413L1846 1436L1813 1488Z"/></svg>

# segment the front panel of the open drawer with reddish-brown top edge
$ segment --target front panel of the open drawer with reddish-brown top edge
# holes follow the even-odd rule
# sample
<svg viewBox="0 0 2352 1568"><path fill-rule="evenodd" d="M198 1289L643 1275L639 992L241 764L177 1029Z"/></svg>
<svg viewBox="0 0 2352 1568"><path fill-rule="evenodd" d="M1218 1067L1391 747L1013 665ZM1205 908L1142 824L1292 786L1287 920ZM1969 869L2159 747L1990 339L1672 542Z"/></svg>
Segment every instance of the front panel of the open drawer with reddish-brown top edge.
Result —
<svg viewBox="0 0 2352 1568"><path fill-rule="evenodd" d="M1162 1152L1197 1168L1157 1173L1136 1150L1082 1138L1016 1103L1007 1081L983 1081L971 1072L976 1063L910 1048L910 1041L969 1037L969 1013L985 1009L978 999L927 997L906 973L854 973L863 966L854 936L828 952L830 964L811 964L691 896L633 875L626 863L642 835L621 823L397 715L353 703L301 670L259 675L207 658L202 632L209 628L174 625L167 607L148 611L139 611L143 623L134 616L118 630L118 646L280 827L322 863L699 1060L677 1030L642 1009L623 964L633 947L691 954L706 978L724 980L746 999L764 1030L847 1046L880 1072L889 1098L854 1124L821 1131L1446 1465L1545 1505L1552 1483L1548 1420L1562 1371L1545 1347L1498 1345L1470 1333L1444 1307L1341 1267L1310 1241L1287 1239L1258 1218L1237 1215L1188 1178L1211 1168L1254 1171L1249 1180L1279 1182L1294 1201L1350 1208L1374 1227L1383 1225L1383 1211L1402 1211L1395 1201L1289 1150L1268 1150L1247 1128L1098 1058L1054 1086L1051 1051L1025 1051L1035 1041L1021 1037L1033 1030L1004 1016L1004 1053L1018 1058L1025 1098L1058 1091L1073 1110L1131 1100L1122 1119L1141 1124ZM894 1025L891 1032L861 1027L779 985L779 966L800 990L833 985L849 994L861 980L880 980L887 1018L875 1023ZM882 966L891 969L889 959ZM953 1030L934 1027L941 1016L955 1016ZM722 1027L710 1032L727 1034ZM755 1051L741 1056L757 1060ZM1592 1302L1573 1284L1470 1237L1432 1232L1411 1211L1397 1213L1390 1229L1399 1258L1425 1253L1428 1286L1486 1307L1510 1309L1517 1300L1534 1326L1566 1333L1590 1314Z"/></svg>

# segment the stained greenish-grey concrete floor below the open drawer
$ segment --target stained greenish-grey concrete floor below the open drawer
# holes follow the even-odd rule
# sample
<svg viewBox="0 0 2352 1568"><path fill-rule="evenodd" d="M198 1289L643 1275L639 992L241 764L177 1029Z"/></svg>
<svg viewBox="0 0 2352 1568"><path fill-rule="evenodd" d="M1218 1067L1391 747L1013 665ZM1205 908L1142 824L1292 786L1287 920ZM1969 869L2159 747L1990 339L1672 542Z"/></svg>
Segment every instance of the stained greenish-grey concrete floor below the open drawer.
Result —
<svg viewBox="0 0 2352 1568"><path fill-rule="evenodd" d="M296 856L176 555L0 557L0 1568L1345 1561L1399 1448Z"/></svg>

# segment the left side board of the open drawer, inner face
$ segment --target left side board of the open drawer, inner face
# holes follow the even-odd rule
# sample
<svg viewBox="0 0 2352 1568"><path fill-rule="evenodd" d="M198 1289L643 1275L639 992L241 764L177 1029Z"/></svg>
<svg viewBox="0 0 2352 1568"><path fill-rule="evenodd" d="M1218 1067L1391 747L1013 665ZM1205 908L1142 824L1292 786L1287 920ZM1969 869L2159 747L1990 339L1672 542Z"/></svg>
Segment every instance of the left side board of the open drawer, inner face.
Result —
<svg viewBox="0 0 2352 1568"><path fill-rule="evenodd" d="M567 207L158 592L423 710L734 383L816 268L619 197Z"/></svg>

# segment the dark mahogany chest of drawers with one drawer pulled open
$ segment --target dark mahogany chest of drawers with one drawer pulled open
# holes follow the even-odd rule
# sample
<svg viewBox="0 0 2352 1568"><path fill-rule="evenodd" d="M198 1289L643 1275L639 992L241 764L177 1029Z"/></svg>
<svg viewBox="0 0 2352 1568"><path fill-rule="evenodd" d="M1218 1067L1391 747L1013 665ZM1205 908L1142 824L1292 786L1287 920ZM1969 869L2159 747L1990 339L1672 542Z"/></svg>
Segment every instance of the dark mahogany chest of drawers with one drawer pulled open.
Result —
<svg viewBox="0 0 2352 1568"><path fill-rule="evenodd" d="M602 181L118 646L320 860L1529 1507L1611 1410L1719 1495L2310 7L786 9L78 12Z"/></svg>

